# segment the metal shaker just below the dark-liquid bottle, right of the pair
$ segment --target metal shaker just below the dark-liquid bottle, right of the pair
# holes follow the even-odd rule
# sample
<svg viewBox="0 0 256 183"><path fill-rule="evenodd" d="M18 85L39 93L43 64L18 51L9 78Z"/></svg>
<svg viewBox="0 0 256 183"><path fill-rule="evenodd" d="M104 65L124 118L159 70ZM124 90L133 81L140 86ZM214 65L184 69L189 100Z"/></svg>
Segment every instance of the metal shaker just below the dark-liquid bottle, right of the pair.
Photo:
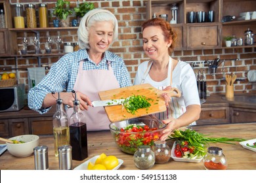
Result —
<svg viewBox="0 0 256 183"><path fill-rule="evenodd" d="M72 146L64 145L58 147L58 165L60 170L72 169Z"/></svg>

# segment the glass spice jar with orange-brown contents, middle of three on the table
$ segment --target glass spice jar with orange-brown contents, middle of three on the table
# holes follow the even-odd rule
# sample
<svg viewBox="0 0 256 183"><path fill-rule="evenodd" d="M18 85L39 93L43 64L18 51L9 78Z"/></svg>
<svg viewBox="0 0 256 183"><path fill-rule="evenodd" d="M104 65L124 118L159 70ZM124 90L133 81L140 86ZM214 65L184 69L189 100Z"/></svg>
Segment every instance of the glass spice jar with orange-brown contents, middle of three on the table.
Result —
<svg viewBox="0 0 256 183"><path fill-rule="evenodd" d="M171 150L165 141L155 141L153 152L156 157L156 163L167 163L171 158Z"/></svg>

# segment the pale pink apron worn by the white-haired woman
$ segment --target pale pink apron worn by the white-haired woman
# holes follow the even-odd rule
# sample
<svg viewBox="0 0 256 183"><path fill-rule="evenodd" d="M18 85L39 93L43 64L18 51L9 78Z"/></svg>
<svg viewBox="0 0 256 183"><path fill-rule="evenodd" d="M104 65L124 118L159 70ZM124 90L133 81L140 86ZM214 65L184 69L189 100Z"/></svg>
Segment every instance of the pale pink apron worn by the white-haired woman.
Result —
<svg viewBox="0 0 256 183"><path fill-rule="evenodd" d="M83 60L79 62L77 78L75 80L74 90L84 93L91 101L98 101L98 92L120 88L114 71L108 61L108 70L94 69L83 71ZM68 108L68 116L71 116L73 108ZM83 110L86 118L87 131L99 131L109 129L110 120L104 110L104 107L89 107L89 110Z"/></svg>

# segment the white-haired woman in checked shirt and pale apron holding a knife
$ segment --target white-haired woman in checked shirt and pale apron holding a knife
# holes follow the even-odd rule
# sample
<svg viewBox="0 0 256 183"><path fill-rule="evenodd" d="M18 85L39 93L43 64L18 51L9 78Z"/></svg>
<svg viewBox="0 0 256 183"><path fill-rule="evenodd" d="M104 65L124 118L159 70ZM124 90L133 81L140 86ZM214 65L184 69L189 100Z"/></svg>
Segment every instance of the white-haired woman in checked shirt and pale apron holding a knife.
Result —
<svg viewBox="0 0 256 183"><path fill-rule="evenodd" d="M81 50L54 63L45 78L29 91L28 106L43 114L56 104L57 95L53 97L51 92L61 92L63 103L72 107L71 91L75 90L88 131L109 129L104 108L89 106L91 101L99 100L100 91L132 85L123 59L108 51L118 36L116 17L108 10L91 10L82 18L77 33Z"/></svg>

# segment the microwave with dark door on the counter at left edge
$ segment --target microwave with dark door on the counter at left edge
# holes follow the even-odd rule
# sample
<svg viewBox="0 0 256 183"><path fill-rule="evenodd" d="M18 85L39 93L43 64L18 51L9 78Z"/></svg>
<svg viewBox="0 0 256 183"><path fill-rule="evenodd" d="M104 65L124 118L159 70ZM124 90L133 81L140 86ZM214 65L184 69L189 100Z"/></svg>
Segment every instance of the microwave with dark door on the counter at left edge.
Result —
<svg viewBox="0 0 256 183"><path fill-rule="evenodd" d="M0 112L18 111L25 106L25 84L0 88Z"/></svg>

